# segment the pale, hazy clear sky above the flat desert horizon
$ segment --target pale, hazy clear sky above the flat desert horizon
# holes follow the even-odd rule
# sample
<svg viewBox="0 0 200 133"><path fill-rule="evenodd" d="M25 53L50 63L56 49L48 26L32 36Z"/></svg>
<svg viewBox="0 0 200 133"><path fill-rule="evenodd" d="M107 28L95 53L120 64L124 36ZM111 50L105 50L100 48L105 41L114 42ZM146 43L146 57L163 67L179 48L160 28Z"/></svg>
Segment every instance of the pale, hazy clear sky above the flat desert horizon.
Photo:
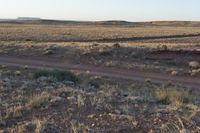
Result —
<svg viewBox="0 0 200 133"><path fill-rule="evenodd" d="M200 21L200 0L0 0L0 18Z"/></svg>

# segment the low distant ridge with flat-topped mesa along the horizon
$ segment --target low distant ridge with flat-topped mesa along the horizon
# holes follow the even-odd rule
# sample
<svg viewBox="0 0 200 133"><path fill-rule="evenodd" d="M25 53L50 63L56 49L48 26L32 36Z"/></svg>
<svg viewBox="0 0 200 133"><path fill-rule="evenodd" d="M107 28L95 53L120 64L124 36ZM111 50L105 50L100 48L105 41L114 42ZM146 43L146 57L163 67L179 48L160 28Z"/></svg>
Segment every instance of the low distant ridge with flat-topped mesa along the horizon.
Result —
<svg viewBox="0 0 200 133"><path fill-rule="evenodd" d="M73 21L73 20L48 20L36 17L19 17L17 19L0 19L0 23L11 24L71 24L71 25L105 25L105 26L174 26L174 27L200 27L200 21L150 21L150 22L128 22L121 20L109 21Z"/></svg>

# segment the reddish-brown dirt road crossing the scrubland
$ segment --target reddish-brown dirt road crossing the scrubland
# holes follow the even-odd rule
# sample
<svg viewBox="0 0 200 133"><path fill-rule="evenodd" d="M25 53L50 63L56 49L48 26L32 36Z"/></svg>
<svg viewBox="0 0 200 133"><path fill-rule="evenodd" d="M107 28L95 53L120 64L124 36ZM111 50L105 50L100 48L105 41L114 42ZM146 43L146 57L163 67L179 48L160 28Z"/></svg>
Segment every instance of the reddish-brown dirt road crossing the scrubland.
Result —
<svg viewBox="0 0 200 133"><path fill-rule="evenodd" d="M116 68L103 68L87 65L75 65L70 64L67 61L58 61L53 59L42 59L42 58L19 58L19 57L0 57L0 64L15 67L24 67L28 65L29 68L33 69L61 69L61 70L72 70L75 72L86 72L90 71L92 75L105 76L114 79L123 80L134 80L134 81L145 81L151 79L155 83L164 83L171 81L172 83L183 85L186 87L200 88L200 79L195 77L182 77L182 76L171 76L167 74L154 73L154 72L142 72L133 70L124 70Z"/></svg>

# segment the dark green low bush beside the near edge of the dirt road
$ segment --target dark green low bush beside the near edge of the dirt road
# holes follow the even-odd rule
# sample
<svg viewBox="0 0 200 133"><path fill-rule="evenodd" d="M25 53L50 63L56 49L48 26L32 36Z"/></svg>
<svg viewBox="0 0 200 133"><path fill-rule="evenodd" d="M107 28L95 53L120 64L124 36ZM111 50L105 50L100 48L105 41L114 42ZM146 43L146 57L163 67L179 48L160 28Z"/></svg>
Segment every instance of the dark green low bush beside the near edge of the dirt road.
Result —
<svg viewBox="0 0 200 133"><path fill-rule="evenodd" d="M78 83L79 78L69 71L61 71L61 70L40 70L34 73L33 76L35 79L40 77L53 77L57 81L72 81L74 83Z"/></svg>

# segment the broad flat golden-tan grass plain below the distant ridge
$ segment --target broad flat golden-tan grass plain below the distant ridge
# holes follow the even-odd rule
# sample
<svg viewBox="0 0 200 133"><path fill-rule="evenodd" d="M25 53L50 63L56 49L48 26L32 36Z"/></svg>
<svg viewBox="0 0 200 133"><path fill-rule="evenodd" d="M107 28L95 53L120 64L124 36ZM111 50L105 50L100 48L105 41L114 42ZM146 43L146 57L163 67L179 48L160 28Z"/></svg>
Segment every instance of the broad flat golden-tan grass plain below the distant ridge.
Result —
<svg viewBox="0 0 200 133"><path fill-rule="evenodd" d="M1 24L0 40L78 41L104 38L130 38L199 33L197 27L124 27L97 25ZM44 38L45 36L45 38Z"/></svg>

